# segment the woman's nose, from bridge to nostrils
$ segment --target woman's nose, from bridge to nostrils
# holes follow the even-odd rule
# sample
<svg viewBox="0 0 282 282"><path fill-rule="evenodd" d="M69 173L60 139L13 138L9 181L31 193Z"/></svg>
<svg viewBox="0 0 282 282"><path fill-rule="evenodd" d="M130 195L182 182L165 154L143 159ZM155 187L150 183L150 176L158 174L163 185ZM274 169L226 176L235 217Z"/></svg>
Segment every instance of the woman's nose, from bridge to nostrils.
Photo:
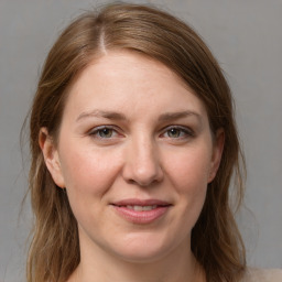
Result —
<svg viewBox="0 0 282 282"><path fill-rule="evenodd" d="M163 170L153 140L150 138L131 140L126 154L122 174L127 182L149 186L163 180Z"/></svg>

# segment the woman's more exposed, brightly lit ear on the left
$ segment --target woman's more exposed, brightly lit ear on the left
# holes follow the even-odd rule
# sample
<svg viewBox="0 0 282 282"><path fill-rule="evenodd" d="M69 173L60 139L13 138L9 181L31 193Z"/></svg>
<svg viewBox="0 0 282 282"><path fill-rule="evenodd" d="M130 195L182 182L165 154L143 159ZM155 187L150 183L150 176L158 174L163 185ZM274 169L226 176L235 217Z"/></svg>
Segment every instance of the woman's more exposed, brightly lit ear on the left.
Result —
<svg viewBox="0 0 282 282"><path fill-rule="evenodd" d="M65 181L61 169L58 152L46 128L41 128L40 130L39 144L42 150L45 164L47 166L48 172L52 175L53 181L57 186L64 188Z"/></svg>

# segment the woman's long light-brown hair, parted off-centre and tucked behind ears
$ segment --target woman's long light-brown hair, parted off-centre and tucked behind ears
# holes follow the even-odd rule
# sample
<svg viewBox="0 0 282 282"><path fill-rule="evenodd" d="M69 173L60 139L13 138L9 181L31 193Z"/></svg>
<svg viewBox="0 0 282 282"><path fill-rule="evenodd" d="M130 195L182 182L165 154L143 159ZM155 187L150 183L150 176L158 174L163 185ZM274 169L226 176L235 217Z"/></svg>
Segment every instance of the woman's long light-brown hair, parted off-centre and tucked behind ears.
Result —
<svg viewBox="0 0 282 282"><path fill-rule="evenodd" d="M45 61L30 115L29 191L34 228L28 281L65 282L79 263L77 223L67 194L55 185L46 169L39 134L41 128L46 128L56 141L68 88L105 50L137 52L163 63L204 102L212 131L224 129L221 162L192 230L192 251L208 282L239 281L246 270L246 256L229 186L239 207L245 161L230 89L215 57L192 28L159 9L129 3L82 14L63 31Z"/></svg>

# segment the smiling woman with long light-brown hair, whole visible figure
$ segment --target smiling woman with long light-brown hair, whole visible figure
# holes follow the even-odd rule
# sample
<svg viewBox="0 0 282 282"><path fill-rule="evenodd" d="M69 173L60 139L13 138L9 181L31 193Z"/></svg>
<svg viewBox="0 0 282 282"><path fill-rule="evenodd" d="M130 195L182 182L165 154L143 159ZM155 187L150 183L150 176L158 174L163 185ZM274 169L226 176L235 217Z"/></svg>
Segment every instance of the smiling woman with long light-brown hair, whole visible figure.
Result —
<svg viewBox="0 0 282 282"><path fill-rule="evenodd" d="M228 197L232 174L243 194L230 90L183 22L83 14L47 56L30 129L29 282L259 281Z"/></svg>

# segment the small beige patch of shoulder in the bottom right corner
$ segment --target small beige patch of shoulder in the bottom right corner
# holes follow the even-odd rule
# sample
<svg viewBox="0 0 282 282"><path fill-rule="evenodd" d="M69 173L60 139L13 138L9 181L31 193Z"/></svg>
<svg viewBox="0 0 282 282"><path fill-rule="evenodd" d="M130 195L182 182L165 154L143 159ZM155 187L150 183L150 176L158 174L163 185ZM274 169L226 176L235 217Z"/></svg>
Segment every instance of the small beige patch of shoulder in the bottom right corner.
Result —
<svg viewBox="0 0 282 282"><path fill-rule="evenodd" d="M282 282L282 269L247 269L242 282Z"/></svg>

